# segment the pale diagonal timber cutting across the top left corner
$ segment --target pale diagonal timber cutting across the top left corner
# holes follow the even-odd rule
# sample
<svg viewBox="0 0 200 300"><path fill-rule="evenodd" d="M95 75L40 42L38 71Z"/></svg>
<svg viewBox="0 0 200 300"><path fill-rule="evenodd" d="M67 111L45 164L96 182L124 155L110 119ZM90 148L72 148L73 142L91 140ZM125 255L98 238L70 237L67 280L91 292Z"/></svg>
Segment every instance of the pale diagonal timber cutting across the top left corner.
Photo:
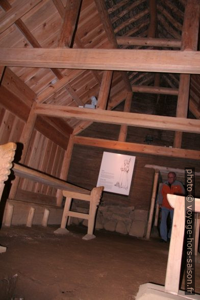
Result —
<svg viewBox="0 0 200 300"><path fill-rule="evenodd" d="M42 0L21 0L9 9L8 12L4 13L0 17L0 33L8 29L17 19L28 13L33 7L38 5ZM1 4L0 4L1 5Z"/></svg>

